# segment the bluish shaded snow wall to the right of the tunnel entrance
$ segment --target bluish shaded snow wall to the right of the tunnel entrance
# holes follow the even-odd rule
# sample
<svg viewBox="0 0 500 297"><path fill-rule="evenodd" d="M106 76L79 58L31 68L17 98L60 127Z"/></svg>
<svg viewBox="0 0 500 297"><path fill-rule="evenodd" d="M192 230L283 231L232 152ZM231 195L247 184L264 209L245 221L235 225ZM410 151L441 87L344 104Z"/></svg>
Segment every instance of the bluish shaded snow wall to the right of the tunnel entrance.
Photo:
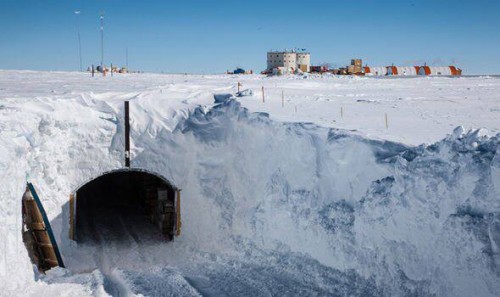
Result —
<svg viewBox="0 0 500 297"><path fill-rule="evenodd" d="M171 137L197 148L179 159L194 168L185 196L209 201L184 208L187 222L202 222L185 229L196 246L216 253L242 236L353 269L397 295L500 289L499 135L459 128L409 148L273 122L228 101L195 111Z"/></svg>

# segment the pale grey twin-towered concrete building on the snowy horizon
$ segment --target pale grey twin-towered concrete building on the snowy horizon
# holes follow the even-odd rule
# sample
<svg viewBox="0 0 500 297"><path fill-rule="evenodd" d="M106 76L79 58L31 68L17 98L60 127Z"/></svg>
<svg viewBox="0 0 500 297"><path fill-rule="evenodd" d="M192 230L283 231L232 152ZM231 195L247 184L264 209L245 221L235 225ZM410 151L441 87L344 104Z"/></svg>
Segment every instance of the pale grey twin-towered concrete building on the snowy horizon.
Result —
<svg viewBox="0 0 500 297"><path fill-rule="evenodd" d="M309 72L311 54L296 51L271 51L267 53L267 70L282 69L282 72L293 73L297 69Z"/></svg>

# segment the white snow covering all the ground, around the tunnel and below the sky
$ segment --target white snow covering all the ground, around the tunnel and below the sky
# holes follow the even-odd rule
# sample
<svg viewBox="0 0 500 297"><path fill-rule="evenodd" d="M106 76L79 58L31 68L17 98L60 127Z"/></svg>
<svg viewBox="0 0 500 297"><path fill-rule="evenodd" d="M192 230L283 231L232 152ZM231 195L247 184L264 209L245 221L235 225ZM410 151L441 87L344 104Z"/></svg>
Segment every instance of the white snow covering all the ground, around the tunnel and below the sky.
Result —
<svg viewBox="0 0 500 297"><path fill-rule="evenodd" d="M254 95L214 103L237 82ZM77 246L64 207L123 166L124 100L132 166L183 189L183 234ZM0 295L496 296L499 132L495 77L0 71ZM27 176L67 266L46 276Z"/></svg>

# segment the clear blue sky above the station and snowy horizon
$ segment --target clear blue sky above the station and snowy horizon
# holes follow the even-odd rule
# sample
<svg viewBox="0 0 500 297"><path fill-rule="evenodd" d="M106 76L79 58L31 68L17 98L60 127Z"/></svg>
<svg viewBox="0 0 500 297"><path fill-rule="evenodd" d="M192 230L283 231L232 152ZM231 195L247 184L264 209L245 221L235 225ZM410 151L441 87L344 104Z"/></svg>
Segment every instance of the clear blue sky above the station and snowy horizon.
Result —
<svg viewBox="0 0 500 297"><path fill-rule="evenodd" d="M454 64L500 73L500 1L0 0L0 69L78 70L100 61L154 72L266 67L269 49L306 48L313 64Z"/></svg>

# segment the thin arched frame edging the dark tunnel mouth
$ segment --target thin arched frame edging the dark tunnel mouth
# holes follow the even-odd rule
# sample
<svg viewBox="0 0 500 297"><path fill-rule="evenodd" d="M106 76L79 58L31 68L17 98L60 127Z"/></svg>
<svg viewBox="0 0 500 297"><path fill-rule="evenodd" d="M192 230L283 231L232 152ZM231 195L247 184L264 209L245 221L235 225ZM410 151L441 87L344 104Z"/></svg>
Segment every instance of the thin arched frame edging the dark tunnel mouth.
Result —
<svg viewBox="0 0 500 297"><path fill-rule="evenodd" d="M158 173L141 169L141 168L122 168L122 169L115 169L115 170L110 170L101 173L98 176L95 176L86 182L82 183L79 185L73 192L71 192L69 196L69 238L73 241L77 240L77 230L76 230L76 225L77 225L77 202L78 202L78 191L82 189L84 186L86 186L89 183L92 183L93 181L96 181L99 178L102 178L107 175L112 175L116 173L144 173L150 176L154 176L158 179L160 179L162 182L164 182L166 185L171 187L174 192L175 192L175 198L174 198L174 225L173 225L173 235L174 236L179 236L181 234L181 227L182 227L182 222L181 222L181 189L177 188L176 186L172 185L171 182L169 182L165 177L161 176ZM174 239L174 236L172 236L172 240Z"/></svg>

